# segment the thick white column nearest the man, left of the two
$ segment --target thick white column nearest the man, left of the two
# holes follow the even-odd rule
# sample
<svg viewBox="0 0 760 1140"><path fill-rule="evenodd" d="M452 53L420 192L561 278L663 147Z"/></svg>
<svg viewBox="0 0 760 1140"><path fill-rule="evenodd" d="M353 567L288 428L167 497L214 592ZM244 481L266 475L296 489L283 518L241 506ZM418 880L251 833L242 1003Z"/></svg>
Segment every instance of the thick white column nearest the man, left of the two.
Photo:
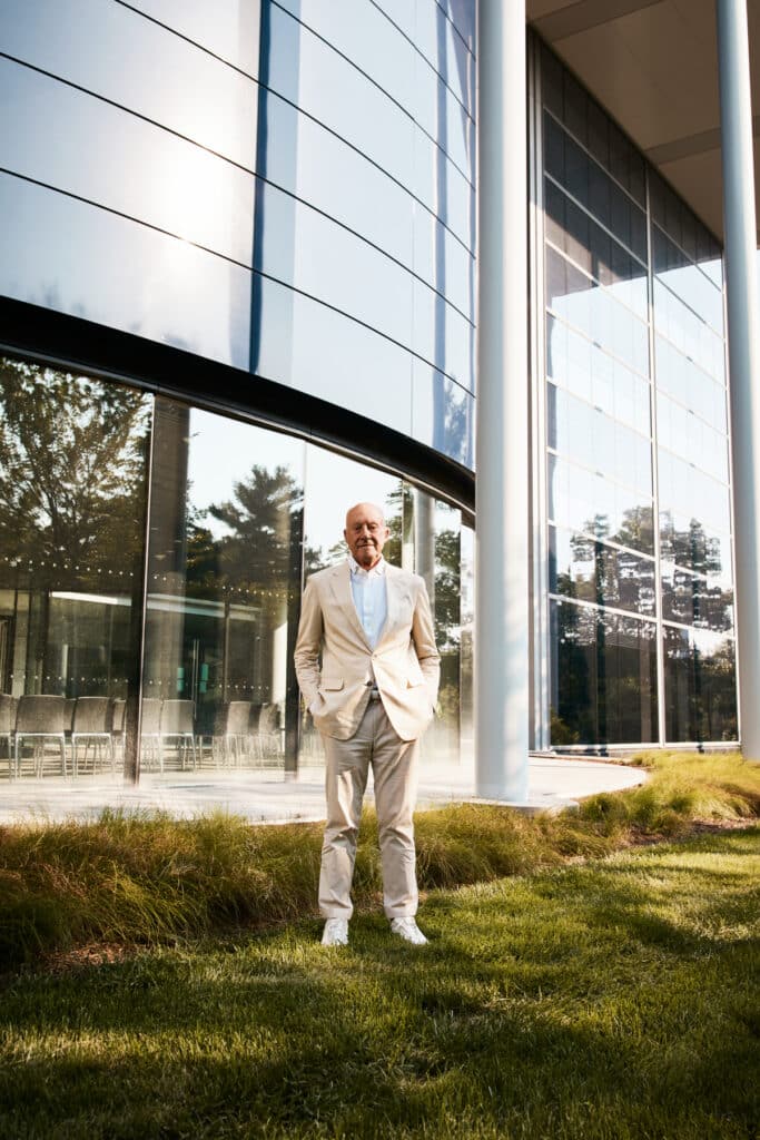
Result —
<svg viewBox="0 0 760 1140"><path fill-rule="evenodd" d="M524 803L529 747L525 5L479 0L476 792Z"/></svg>

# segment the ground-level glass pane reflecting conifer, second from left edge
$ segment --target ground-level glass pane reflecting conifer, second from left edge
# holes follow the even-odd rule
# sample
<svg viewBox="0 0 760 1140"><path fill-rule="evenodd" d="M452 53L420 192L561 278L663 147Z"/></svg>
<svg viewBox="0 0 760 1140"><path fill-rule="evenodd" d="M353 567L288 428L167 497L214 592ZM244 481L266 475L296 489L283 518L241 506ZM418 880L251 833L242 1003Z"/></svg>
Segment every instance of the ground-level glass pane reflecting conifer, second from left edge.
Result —
<svg viewBox="0 0 760 1140"><path fill-rule="evenodd" d="M293 769L304 445L165 399L155 433L144 768Z"/></svg>

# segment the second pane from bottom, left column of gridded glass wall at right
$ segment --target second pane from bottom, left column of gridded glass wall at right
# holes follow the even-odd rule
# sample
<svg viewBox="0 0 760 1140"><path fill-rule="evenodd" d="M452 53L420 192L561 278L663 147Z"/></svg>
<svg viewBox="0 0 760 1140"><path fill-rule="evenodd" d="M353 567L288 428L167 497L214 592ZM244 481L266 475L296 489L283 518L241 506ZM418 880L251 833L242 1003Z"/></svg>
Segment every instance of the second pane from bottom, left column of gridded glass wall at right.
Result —
<svg viewBox="0 0 760 1140"><path fill-rule="evenodd" d="M586 535L549 527L549 591L654 616L654 561Z"/></svg>

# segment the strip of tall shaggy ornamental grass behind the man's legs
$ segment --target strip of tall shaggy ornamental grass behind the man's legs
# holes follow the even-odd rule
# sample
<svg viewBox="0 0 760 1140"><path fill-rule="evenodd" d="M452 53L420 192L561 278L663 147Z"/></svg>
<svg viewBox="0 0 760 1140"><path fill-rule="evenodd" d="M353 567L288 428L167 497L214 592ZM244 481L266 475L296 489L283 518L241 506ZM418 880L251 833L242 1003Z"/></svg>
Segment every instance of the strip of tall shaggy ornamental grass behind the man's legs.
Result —
<svg viewBox="0 0 760 1140"><path fill-rule="evenodd" d="M571 763L571 762L569 762ZM644 754L640 789L586 800L578 813L536 819L465 805L420 813L425 890L597 858L696 820L760 816L760 765L737 754ZM235 816L174 821L106 812L95 823L0 828L0 968L90 943L166 945L236 927L316 915L321 828L251 826ZM376 823L366 813L354 898L376 910Z"/></svg>

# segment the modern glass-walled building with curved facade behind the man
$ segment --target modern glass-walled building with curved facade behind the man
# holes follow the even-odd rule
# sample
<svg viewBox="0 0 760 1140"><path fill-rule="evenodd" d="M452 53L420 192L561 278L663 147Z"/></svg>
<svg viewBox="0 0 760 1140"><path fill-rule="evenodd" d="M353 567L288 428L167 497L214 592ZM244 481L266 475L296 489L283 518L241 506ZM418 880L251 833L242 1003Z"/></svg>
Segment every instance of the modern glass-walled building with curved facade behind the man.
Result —
<svg viewBox="0 0 760 1140"><path fill-rule="evenodd" d="M474 763L475 660L518 766L739 740L716 43L711 0L2 0L0 779L319 764L292 650L358 499L431 594L425 763Z"/></svg>

